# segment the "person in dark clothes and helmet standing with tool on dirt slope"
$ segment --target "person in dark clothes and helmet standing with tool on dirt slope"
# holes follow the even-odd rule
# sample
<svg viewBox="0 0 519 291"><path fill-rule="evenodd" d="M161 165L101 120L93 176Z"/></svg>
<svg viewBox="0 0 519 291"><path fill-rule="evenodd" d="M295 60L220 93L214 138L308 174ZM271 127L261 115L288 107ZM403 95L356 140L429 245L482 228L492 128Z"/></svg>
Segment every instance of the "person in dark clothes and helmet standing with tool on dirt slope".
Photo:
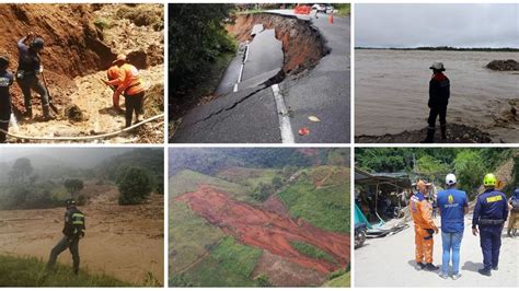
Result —
<svg viewBox="0 0 519 291"><path fill-rule="evenodd" d="M28 45L26 45L28 43ZM41 37L34 37L32 33L18 42L19 67L16 71L16 82L22 90L25 102L25 116L33 117L31 90L34 90L42 98L42 109L44 120L54 119L50 112L49 97L47 89L41 81L43 70L39 54L44 49L44 40Z"/></svg>

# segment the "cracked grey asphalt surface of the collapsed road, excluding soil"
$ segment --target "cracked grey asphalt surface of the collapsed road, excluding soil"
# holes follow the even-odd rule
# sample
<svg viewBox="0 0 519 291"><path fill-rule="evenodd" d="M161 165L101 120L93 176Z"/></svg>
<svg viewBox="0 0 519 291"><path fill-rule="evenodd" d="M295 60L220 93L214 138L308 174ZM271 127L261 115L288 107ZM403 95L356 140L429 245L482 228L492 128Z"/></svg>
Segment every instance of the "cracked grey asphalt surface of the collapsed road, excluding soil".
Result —
<svg viewBox="0 0 519 291"><path fill-rule="evenodd" d="M270 11L292 14L291 10ZM290 113L290 123L296 142L347 143L350 136L349 102L349 18L319 19L301 16L313 22L326 39L331 53L304 75L287 78L280 84L285 103ZM255 31L260 31L255 27ZM282 66L281 43L274 31L258 33L251 42L239 91L198 106L183 119L172 142L186 143L280 143L279 118L272 89L263 82L274 77ZM231 62L238 67L237 62ZM230 92L229 84L235 70L229 72L227 86L220 92ZM262 90L263 88L263 90ZM316 116L320 123L308 118ZM298 136L302 127L310 129L308 136Z"/></svg>

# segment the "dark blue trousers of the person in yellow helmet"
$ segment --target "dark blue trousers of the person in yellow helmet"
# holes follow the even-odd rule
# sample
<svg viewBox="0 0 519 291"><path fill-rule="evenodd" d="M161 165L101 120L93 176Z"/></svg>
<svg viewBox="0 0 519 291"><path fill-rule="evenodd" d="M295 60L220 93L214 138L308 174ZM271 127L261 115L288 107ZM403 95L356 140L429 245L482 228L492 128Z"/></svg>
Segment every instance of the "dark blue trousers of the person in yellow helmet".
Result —
<svg viewBox="0 0 519 291"><path fill-rule="evenodd" d="M499 249L501 247L503 226L480 226L481 251L485 270L496 268L499 264Z"/></svg>

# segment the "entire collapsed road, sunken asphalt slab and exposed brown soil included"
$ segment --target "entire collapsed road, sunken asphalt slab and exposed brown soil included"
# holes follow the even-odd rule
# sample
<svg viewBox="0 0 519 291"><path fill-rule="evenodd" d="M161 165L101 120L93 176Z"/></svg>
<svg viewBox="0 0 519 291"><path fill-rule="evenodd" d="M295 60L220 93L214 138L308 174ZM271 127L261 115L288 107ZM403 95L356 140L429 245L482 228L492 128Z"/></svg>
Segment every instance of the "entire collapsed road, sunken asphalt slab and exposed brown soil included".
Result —
<svg viewBox="0 0 519 291"><path fill-rule="evenodd" d="M241 44L219 97L184 116L171 142L349 142L349 18L276 10L228 30Z"/></svg>

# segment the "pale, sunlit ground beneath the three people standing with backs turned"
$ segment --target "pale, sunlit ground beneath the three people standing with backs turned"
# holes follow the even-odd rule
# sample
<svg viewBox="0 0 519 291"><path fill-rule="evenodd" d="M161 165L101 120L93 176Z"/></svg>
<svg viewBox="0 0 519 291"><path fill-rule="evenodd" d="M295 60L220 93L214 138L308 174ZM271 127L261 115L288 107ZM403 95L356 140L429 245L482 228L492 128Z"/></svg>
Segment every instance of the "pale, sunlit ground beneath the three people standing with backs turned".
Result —
<svg viewBox="0 0 519 291"><path fill-rule="evenodd" d="M371 238L355 251L355 287L518 287L519 237L501 235L499 270L492 277L477 272L483 267L480 237L472 235L472 214L465 216L461 243L460 271L462 277L441 279L437 272L415 269L414 226L384 238ZM435 221L440 225L439 218ZM505 224L507 225L507 224ZM441 233L434 236L432 264L441 267Z"/></svg>

